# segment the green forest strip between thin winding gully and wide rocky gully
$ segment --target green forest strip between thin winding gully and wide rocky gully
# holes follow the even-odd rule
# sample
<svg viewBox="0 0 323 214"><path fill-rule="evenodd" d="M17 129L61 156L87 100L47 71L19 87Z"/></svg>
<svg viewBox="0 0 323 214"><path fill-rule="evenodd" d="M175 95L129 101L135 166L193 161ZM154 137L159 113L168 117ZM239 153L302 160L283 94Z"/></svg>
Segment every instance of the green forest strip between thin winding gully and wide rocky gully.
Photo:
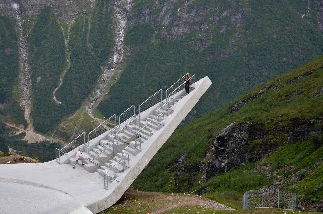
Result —
<svg viewBox="0 0 323 214"><path fill-rule="evenodd" d="M88 19L85 16L76 17L72 24L69 41L71 66L66 72L63 84L56 92L57 99L66 109L65 114L70 114L79 108L102 72L87 45L88 25Z"/></svg>

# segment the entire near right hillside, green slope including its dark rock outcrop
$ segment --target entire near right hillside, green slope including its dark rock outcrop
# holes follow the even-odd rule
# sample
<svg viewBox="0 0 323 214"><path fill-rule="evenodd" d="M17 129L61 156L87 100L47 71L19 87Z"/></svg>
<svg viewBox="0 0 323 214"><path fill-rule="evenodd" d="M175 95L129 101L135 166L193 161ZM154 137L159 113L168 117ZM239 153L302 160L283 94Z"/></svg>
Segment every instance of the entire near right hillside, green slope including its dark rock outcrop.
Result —
<svg viewBox="0 0 323 214"><path fill-rule="evenodd" d="M247 190L296 192L323 211L323 57L177 129L134 187L203 195L241 208Z"/></svg>

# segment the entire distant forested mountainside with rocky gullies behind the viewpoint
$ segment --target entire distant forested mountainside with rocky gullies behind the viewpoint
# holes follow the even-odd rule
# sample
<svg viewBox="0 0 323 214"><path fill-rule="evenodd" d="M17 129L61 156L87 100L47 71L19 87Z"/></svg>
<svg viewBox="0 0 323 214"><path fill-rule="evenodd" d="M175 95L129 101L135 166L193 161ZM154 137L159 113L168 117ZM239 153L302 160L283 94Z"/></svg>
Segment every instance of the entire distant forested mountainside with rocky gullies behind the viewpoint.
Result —
<svg viewBox="0 0 323 214"><path fill-rule="evenodd" d="M70 138L96 125L93 113L121 113L187 71L213 82L191 113L201 116L321 55L322 8L319 0L2 0L1 54L10 60L0 59L1 114Z"/></svg>

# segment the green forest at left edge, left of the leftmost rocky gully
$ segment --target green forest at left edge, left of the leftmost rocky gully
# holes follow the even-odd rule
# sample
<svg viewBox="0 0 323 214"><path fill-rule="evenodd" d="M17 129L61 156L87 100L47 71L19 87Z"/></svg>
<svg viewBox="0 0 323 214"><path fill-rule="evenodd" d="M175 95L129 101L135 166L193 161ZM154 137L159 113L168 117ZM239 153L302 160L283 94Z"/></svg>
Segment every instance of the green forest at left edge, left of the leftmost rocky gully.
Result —
<svg viewBox="0 0 323 214"><path fill-rule="evenodd" d="M27 126L19 95L14 93L19 84L19 57L16 22L0 16L0 114L9 122Z"/></svg>

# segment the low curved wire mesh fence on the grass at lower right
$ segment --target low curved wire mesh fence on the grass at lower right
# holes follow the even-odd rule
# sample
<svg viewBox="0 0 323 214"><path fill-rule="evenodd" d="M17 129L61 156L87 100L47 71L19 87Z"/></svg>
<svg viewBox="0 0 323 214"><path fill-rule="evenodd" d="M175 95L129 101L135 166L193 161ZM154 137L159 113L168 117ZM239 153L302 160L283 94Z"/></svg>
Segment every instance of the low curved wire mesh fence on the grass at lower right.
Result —
<svg viewBox="0 0 323 214"><path fill-rule="evenodd" d="M242 197L242 209L277 207L295 210L296 194L278 188L246 191Z"/></svg>

